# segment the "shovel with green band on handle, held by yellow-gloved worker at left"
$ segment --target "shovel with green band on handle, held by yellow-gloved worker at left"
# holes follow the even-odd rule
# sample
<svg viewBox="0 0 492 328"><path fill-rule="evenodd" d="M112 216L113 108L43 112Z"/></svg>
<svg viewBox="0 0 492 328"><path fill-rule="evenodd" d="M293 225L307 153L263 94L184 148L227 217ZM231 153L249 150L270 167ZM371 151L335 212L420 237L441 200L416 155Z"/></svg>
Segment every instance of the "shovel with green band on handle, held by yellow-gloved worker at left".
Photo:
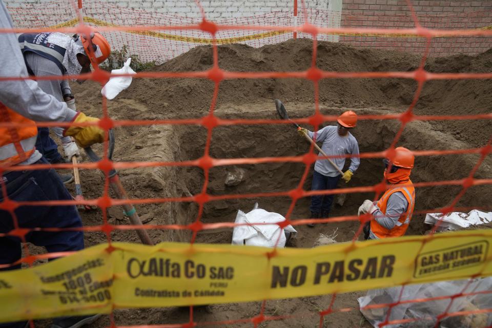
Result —
<svg viewBox="0 0 492 328"><path fill-rule="evenodd" d="M94 151L90 147L84 148L84 150L86 151L87 156L89 156L91 161L97 162L101 160L99 156L97 156L96 153L94 153ZM114 132L113 130L109 130L108 159L111 159L113 157L113 150L114 150ZM127 193L125 192L125 189L121 185L116 170L111 170L109 172L109 185L111 186L111 189L113 189L114 193L116 194L116 197L118 197L119 199L128 199ZM130 221L134 226L143 226L142 221L138 217L138 214L132 204L124 204L123 209L125 210L125 214L130 217ZM136 232L142 244L147 244L147 245L154 244L150 239L149 235L147 234L147 230L137 229Z"/></svg>

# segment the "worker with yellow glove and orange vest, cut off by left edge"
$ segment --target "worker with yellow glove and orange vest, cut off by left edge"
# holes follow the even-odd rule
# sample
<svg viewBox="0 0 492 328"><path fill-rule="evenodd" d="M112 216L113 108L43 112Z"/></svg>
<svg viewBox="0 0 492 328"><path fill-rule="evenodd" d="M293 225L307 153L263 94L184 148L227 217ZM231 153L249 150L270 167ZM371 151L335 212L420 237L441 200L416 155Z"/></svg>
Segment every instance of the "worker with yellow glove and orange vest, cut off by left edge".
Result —
<svg viewBox="0 0 492 328"><path fill-rule="evenodd" d="M12 29L5 4L0 0L0 29ZM90 43L90 37L86 38ZM28 77L22 52L15 33L0 33L0 76ZM15 202L71 200L59 176L53 169L27 170L48 161L35 148L35 121L73 122L76 125L98 121L68 108L64 101L41 90L36 81L0 81L0 270L20 268L21 242L44 246L48 252L78 251L84 248L84 233L75 206L15 207ZM88 147L105 138L97 125L64 129L79 147ZM13 168L26 170L12 170ZM36 230L35 228L40 228ZM60 231L47 231L58 228ZM27 233L26 233L27 230ZM90 324L99 315L56 318L52 328L75 328ZM0 327L24 328L26 321L0 324Z"/></svg>

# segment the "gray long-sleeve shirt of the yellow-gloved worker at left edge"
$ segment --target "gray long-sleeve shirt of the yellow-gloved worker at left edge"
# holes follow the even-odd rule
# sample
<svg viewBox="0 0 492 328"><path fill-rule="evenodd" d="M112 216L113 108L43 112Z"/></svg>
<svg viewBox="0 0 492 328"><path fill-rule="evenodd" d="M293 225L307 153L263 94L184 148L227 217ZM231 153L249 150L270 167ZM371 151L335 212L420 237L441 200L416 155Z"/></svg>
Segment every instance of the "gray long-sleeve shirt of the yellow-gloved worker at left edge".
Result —
<svg viewBox="0 0 492 328"><path fill-rule="evenodd" d="M0 0L0 28L13 28L12 20L2 0ZM0 33L0 45L2 45L0 76L29 76L15 33ZM0 101L16 113L35 121L69 122L76 114L63 101L45 93L38 87L36 81L29 79L0 81ZM28 165L39 158L40 154L36 151L31 158L21 164Z"/></svg>

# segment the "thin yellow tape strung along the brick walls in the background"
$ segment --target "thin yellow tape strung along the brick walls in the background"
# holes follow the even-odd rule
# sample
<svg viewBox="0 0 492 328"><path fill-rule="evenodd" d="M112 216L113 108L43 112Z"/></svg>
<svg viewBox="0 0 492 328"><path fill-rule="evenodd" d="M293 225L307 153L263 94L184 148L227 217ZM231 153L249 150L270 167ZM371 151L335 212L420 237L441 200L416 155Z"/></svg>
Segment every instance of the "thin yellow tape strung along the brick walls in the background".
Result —
<svg viewBox="0 0 492 328"><path fill-rule="evenodd" d="M118 25L107 23L104 20L96 19L93 17L89 16L84 16L84 22L85 23L92 23L96 26L114 26L117 27ZM72 20L69 20L68 22L53 25L50 28L63 28L63 27L72 27L78 24L78 19L74 18ZM492 29L492 26L486 26L479 28L480 30L490 30ZM182 36L182 35L175 35L175 34L168 34L168 33L160 33L156 31L125 31L125 33L132 33L132 34L138 34L138 35L145 35L145 36L153 36L153 37L158 37L162 39L168 39L168 40L173 40L173 41L178 41L178 42L187 42L187 43L195 43L195 44L207 44L211 45L212 44L212 38L204 38L204 37L191 37L191 36ZM244 36L237 36L237 37L228 37L228 38L217 38L216 43L218 45L223 45L223 44L232 44L232 43L238 43L238 42L245 42L245 41L250 41L250 40L255 40L255 39L263 39L267 37L272 37L276 35L281 35L285 33L292 33L291 31L269 31L269 32L263 32L263 33L256 33L256 34L250 34L250 35L244 35ZM414 35L414 34L398 34L398 33L391 33L391 34L386 34L386 33L343 33L343 32L338 32L338 33L321 33L321 34L335 34L335 35L347 35L347 36L378 36L378 37L423 37L421 35ZM433 37L456 37L453 35L446 35L446 36L433 36Z"/></svg>

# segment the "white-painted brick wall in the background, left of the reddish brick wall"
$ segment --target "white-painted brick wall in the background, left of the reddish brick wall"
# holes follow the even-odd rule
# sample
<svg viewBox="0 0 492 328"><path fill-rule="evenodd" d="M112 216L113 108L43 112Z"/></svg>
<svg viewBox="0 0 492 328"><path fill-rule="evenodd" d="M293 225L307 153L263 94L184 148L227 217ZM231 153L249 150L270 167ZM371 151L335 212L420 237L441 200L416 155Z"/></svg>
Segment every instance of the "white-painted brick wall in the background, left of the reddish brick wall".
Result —
<svg viewBox="0 0 492 328"><path fill-rule="evenodd" d="M76 0L4 0L16 27L42 30L77 17ZM294 0L200 0L209 20L235 26L296 26L303 24L302 5L298 0L298 16L294 17ZM342 0L306 2L309 22L319 27L340 26ZM192 0L83 0L83 14L95 19L95 25L116 26L181 26L200 22L201 14ZM97 21L102 23L97 23ZM210 34L199 30L152 31L167 34L138 35L132 32L103 32L112 49L126 45L130 54L144 61L158 63L173 58L199 45L210 43ZM219 40L243 43L252 47L276 44L293 37L291 32L265 36L262 30L222 30ZM169 35L171 35L169 37ZM298 33L298 37L310 37ZM318 39L338 42L338 35L318 35ZM197 41L198 40L198 41ZM226 41L224 41L226 42Z"/></svg>

